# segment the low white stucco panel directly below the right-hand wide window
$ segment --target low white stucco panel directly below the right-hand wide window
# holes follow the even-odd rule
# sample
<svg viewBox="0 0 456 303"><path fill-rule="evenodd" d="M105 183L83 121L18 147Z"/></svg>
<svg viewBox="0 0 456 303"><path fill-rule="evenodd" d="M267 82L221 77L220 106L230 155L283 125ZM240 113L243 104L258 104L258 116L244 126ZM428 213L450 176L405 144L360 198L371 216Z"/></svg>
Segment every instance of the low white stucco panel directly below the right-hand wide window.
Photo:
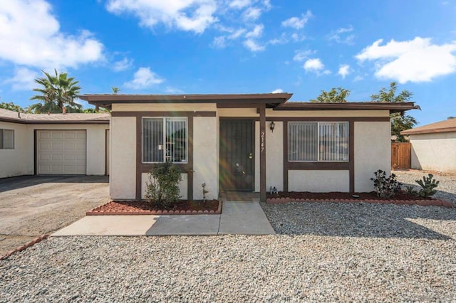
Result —
<svg viewBox="0 0 456 303"><path fill-rule="evenodd" d="M289 191L350 191L348 171L288 171Z"/></svg>

